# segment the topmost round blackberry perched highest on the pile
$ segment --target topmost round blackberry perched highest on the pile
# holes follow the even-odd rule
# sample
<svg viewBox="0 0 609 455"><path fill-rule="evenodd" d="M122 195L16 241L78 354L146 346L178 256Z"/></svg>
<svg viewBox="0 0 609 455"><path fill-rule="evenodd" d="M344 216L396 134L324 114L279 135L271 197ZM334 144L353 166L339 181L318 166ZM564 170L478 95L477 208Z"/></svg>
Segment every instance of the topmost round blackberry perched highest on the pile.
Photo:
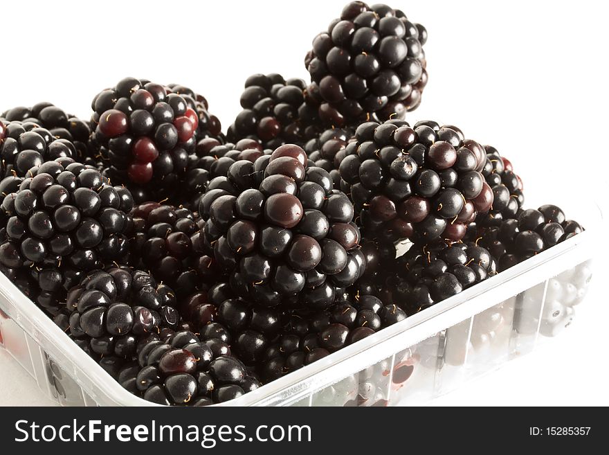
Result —
<svg viewBox="0 0 609 455"><path fill-rule="evenodd" d="M427 83L427 31L401 10L361 1L313 39L305 57L322 119L342 126L375 114L381 121L419 106Z"/></svg>

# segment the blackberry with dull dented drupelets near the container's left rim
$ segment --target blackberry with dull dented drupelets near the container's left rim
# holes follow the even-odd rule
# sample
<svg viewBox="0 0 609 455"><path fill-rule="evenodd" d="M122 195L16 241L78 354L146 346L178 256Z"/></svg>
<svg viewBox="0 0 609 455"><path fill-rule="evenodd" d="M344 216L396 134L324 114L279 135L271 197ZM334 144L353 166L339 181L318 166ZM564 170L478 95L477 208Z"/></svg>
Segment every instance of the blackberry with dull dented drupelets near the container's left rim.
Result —
<svg viewBox="0 0 609 455"><path fill-rule="evenodd" d="M128 267L92 271L70 289L66 302L73 337L88 341L98 354L127 359L147 334L177 328L175 307L170 287Z"/></svg>

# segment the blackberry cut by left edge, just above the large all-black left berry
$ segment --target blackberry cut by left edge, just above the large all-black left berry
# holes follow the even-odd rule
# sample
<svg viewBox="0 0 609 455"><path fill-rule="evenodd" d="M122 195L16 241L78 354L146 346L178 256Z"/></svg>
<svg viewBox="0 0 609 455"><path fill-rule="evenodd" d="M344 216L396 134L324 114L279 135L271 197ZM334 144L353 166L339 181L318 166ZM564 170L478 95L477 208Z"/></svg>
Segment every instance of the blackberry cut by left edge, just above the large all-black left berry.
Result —
<svg viewBox="0 0 609 455"><path fill-rule="evenodd" d="M53 108L56 109L54 106ZM10 111L8 113L10 114ZM73 138L56 136L52 127L47 127L37 118L26 118L23 122L7 121L1 129L1 178L25 177L30 168L57 158L82 158Z"/></svg>

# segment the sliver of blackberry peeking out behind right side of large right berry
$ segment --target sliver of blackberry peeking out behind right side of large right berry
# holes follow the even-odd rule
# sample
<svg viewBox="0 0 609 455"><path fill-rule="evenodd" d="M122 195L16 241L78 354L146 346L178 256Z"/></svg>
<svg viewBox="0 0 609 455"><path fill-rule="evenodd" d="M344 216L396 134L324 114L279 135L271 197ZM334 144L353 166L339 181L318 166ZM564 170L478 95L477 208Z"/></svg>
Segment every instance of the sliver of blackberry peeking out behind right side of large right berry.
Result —
<svg viewBox="0 0 609 455"><path fill-rule="evenodd" d="M503 220L515 218L525 203L522 180L513 172L511 162L502 157L498 150L484 145L487 163L482 175L493 191L493 205L488 213L480 213L476 223L480 226L499 226Z"/></svg>

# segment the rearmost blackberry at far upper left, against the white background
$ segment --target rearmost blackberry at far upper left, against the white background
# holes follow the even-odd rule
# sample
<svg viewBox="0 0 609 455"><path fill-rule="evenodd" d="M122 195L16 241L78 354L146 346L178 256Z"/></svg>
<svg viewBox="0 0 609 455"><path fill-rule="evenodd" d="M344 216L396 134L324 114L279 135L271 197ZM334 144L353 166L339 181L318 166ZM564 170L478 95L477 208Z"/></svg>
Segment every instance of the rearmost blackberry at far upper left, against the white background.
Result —
<svg viewBox="0 0 609 455"><path fill-rule="evenodd" d="M21 124L25 131L32 130L32 124L38 125L37 128L42 128L42 130L37 130L37 132L47 142L50 142L48 141L49 137L51 140L62 139L62 143L68 145L72 152L72 155L58 155L57 152L47 152L48 157L45 157L43 152L43 159L46 158L48 160L60 156L69 156L80 163L91 164L93 166L99 161L96 161L94 157L95 152L91 148L91 126L89 123L71 114L66 114L65 111L50 102L39 102L33 107L15 107L4 112L0 117L15 122L17 125ZM15 127L12 132L15 140L19 139L17 133L19 130L19 127ZM48 133L51 133L50 136ZM53 145L53 147L58 147L58 145Z"/></svg>

